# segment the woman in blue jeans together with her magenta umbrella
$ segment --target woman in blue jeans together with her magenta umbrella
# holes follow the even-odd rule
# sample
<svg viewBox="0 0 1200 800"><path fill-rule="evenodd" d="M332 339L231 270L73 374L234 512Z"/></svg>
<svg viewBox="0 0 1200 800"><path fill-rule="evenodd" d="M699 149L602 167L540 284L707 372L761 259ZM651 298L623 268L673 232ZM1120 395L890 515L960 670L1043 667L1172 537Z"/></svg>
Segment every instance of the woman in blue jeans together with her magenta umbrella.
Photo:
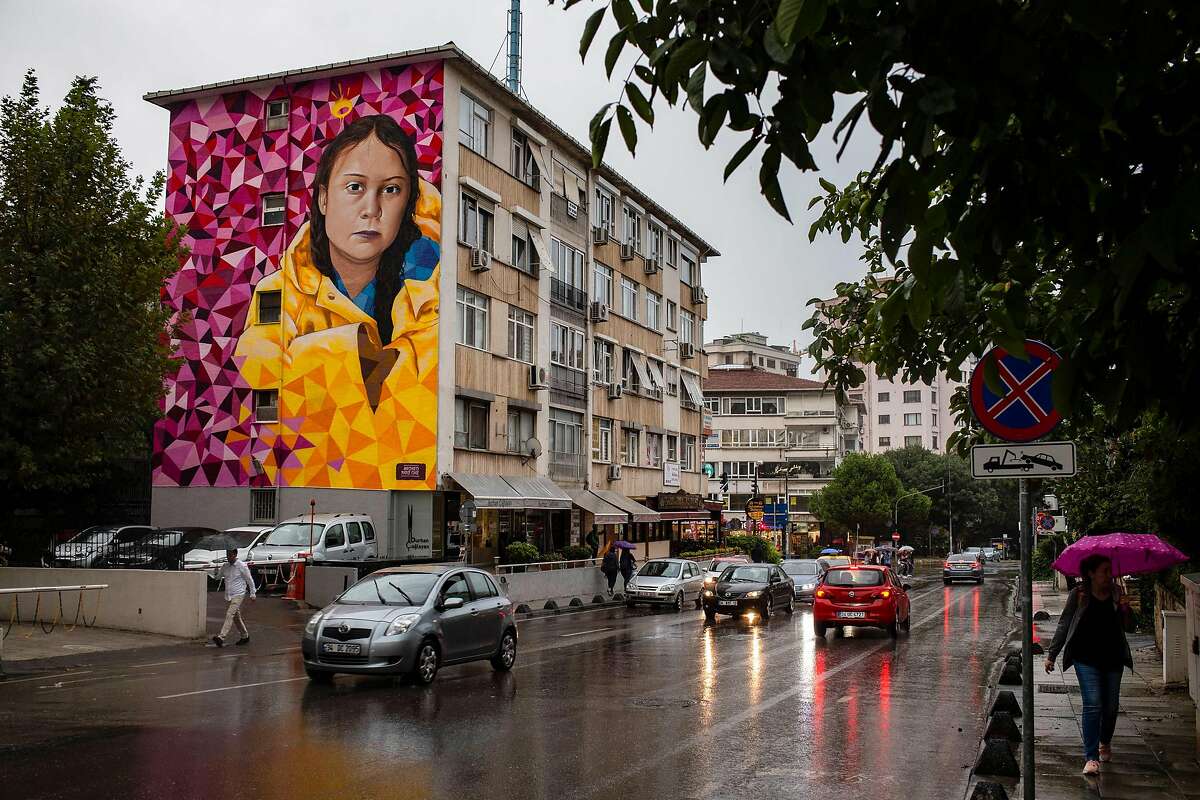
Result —
<svg viewBox="0 0 1200 800"><path fill-rule="evenodd" d="M1100 762L1112 758L1121 675L1126 667L1133 669L1123 625L1129 606L1112 581L1114 572L1157 572L1186 560L1157 536L1109 534L1080 539L1054 563L1060 572L1080 577L1058 618L1045 669L1054 672L1060 652L1064 652L1063 669L1075 667L1084 704L1084 775L1096 775Z"/></svg>

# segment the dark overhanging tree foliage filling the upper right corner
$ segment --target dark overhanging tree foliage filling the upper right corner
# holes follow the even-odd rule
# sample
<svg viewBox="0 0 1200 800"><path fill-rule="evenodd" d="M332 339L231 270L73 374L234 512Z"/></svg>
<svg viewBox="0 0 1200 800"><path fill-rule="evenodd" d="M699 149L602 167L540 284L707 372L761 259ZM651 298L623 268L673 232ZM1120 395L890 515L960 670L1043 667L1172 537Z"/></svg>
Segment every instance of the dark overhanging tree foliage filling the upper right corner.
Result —
<svg viewBox="0 0 1200 800"><path fill-rule="evenodd" d="M706 146L744 137L726 176L761 150L762 192L790 218L785 157L816 170L809 144L830 127L842 150L864 120L878 132L874 167L814 200L810 236L858 235L870 264L810 321L839 386L862 363L954 377L1034 336L1067 356L1063 408L1096 398L1122 431L1160 409L1200 432L1200 104L1181 101L1200 94L1200 4L611 0L584 58L610 11L608 74L636 61L592 121L596 162L614 119L632 150L635 115L684 103Z"/></svg>

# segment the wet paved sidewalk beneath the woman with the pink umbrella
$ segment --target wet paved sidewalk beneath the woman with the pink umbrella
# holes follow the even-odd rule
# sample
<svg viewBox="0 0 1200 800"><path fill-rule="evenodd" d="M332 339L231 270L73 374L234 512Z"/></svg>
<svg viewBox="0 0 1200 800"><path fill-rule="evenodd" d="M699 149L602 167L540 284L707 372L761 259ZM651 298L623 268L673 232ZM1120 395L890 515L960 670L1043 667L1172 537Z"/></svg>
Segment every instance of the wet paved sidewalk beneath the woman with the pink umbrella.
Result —
<svg viewBox="0 0 1200 800"><path fill-rule="evenodd" d="M1049 646L1067 594L1052 583L1033 584L1033 609L1049 620L1034 622L1034 642ZM1196 763L1195 708L1184 690L1164 690L1162 657L1153 637L1130 636L1134 669L1121 684L1121 715L1112 740L1112 762L1103 764L1098 777L1084 777L1080 742L1079 684L1074 670L1051 674L1034 656L1034 754L1039 800L1066 798L1135 798L1160 800L1200 798L1200 764ZM1060 658L1061 667L1061 658ZM1015 690L1018 700L1020 687ZM1020 796L1020 784L1010 796Z"/></svg>

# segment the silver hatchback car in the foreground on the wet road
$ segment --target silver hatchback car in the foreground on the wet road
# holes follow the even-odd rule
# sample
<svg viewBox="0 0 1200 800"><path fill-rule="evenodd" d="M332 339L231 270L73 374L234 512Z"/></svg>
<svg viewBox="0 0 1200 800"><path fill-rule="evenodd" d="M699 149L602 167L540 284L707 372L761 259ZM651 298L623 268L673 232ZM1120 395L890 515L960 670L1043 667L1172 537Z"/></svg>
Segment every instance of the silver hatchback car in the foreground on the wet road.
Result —
<svg viewBox="0 0 1200 800"><path fill-rule="evenodd" d="M391 567L343 591L305 625L308 678L335 673L407 674L430 684L443 666L517 657L512 603L482 570L457 565Z"/></svg>

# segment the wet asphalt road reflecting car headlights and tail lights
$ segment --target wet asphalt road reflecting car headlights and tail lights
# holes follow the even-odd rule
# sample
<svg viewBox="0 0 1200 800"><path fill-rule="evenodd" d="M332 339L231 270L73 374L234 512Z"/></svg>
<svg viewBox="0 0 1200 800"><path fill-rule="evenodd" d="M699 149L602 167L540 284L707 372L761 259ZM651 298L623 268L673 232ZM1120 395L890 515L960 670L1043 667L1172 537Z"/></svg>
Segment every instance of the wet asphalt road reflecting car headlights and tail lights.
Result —
<svg viewBox="0 0 1200 800"><path fill-rule="evenodd" d="M0 684L0 795L962 798L1010 577L918 577L895 642L818 640L803 607L767 624L648 609L529 620L512 673L450 667L427 688L310 685L287 630L304 615L278 610L245 649Z"/></svg>

